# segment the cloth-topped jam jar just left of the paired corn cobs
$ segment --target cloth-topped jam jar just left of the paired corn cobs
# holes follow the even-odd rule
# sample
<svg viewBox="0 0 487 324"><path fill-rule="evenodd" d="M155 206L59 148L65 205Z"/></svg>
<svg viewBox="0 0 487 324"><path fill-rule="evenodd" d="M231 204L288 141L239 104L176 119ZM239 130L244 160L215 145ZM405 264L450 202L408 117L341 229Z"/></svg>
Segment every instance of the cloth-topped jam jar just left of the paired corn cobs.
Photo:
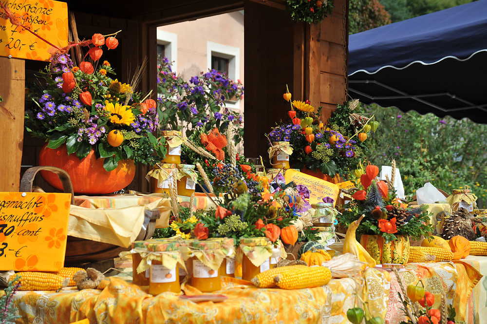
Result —
<svg viewBox="0 0 487 324"><path fill-rule="evenodd" d="M272 243L265 237L247 237L240 240L238 261L242 260L242 279L250 281L270 269Z"/></svg>

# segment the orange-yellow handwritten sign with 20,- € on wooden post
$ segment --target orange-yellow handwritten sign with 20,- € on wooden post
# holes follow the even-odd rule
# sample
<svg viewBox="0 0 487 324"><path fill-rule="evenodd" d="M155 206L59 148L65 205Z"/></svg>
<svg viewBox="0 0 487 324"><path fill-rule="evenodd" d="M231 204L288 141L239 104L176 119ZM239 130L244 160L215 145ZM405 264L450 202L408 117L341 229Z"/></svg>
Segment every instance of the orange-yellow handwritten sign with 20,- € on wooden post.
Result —
<svg viewBox="0 0 487 324"><path fill-rule="evenodd" d="M68 4L60 1L2 0L20 24L62 48L68 45ZM0 10L3 13L3 10ZM0 15L0 56L48 61L48 43Z"/></svg>

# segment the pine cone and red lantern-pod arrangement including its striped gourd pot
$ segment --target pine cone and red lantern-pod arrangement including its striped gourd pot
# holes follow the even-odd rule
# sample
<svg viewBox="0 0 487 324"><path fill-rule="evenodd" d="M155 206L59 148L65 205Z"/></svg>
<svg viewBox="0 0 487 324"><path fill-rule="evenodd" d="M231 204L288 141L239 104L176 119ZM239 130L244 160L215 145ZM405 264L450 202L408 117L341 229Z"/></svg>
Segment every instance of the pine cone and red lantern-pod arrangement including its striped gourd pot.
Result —
<svg viewBox="0 0 487 324"><path fill-rule="evenodd" d="M408 208L398 200L393 182L379 181L378 172L375 165L366 167L358 188L351 189L355 191L353 199L343 206L337 221L347 228L364 215L356 229L361 235L360 244L378 264L405 264L409 258L409 236L417 239L432 232L432 226L426 225L429 213L424 207Z"/></svg>

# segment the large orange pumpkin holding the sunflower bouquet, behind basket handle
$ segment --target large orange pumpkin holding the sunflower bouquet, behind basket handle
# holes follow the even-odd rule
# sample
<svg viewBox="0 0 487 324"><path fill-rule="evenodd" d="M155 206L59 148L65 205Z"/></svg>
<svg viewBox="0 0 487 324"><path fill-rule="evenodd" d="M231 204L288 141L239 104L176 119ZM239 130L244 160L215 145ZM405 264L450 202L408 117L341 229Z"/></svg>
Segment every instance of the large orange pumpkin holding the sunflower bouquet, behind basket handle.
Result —
<svg viewBox="0 0 487 324"><path fill-rule="evenodd" d="M135 176L135 165L132 160L118 161L113 171L103 168L103 158L96 158L94 150L81 161L76 153L68 155L66 145L57 149L48 149L47 144L39 152L39 165L49 165L68 172L73 183L73 190L82 194L105 194L122 190L131 184ZM61 182L53 172L41 171L44 180L58 190Z"/></svg>

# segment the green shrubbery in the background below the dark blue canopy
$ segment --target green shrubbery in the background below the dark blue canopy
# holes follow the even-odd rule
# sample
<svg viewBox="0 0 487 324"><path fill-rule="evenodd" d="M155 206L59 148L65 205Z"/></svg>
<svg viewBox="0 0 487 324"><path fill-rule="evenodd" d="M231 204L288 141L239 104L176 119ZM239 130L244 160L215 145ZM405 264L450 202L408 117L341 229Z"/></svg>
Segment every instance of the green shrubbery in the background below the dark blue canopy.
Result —
<svg viewBox="0 0 487 324"><path fill-rule="evenodd" d="M380 123L376 136L367 139L368 160L380 166L391 165L395 159L406 194L429 181L447 193L468 185L479 197L477 203L485 202L487 125L377 105L362 110L374 114Z"/></svg>

